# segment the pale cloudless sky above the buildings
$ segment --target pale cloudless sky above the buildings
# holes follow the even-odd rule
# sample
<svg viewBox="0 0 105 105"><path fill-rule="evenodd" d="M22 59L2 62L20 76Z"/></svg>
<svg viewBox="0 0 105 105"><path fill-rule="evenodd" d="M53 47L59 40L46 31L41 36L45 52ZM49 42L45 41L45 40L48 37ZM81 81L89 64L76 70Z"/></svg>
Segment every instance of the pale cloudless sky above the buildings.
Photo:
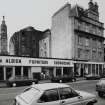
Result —
<svg viewBox="0 0 105 105"><path fill-rule="evenodd" d="M13 33L32 26L37 30L51 29L53 14L64 4L88 8L90 0L0 0L0 24L5 16L8 38ZM100 21L105 23L105 0L93 0L99 5Z"/></svg>

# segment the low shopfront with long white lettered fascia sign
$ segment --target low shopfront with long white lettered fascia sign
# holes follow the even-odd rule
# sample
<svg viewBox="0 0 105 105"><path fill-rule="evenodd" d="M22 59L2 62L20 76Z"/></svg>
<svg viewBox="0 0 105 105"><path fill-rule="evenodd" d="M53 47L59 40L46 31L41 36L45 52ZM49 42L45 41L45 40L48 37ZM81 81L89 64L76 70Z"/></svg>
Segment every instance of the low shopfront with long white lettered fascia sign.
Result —
<svg viewBox="0 0 105 105"><path fill-rule="evenodd" d="M71 75L73 70L73 61L69 59L0 56L1 81L16 76L49 79L60 75Z"/></svg>

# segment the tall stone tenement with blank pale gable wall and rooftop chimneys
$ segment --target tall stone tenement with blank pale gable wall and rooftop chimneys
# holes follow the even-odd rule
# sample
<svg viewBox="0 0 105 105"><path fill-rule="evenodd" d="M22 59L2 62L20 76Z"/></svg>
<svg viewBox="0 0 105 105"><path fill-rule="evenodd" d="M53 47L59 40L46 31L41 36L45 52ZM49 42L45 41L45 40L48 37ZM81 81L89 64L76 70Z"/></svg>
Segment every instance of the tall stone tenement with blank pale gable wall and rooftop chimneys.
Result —
<svg viewBox="0 0 105 105"><path fill-rule="evenodd" d="M88 9L67 3L52 16L51 56L72 59L77 76L103 73L104 24L98 8L92 0Z"/></svg>

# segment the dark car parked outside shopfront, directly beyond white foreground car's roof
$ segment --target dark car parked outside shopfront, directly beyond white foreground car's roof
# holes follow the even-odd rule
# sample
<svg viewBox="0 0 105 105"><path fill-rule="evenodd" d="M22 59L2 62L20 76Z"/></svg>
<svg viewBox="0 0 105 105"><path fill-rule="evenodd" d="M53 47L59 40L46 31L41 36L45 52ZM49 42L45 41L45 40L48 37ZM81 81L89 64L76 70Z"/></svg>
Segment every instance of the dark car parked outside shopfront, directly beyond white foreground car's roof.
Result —
<svg viewBox="0 0 105 105"><path fill-rule="evenodd" d="M56 76L51 78L52 82L69 82L69 81L76 81L74 76L64 75L64 76Z"/></svg>

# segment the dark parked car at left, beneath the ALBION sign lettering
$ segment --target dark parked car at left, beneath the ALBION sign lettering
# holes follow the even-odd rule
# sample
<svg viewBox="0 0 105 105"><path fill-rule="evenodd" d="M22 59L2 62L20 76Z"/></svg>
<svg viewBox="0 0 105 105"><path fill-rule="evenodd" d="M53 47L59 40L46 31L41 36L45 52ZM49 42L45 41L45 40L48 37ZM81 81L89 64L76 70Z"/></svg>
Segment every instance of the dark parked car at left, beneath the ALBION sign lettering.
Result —
<svg viewBox="0 0 105 105"><path fill-rule="evenodd" d="M12 86L21 86L21 85L31 85L33 82L37 84L38 79L32 79L24 76L15 76L15 77L10 77L6 81L6 84L7 86L12 87Z"/></svg>

